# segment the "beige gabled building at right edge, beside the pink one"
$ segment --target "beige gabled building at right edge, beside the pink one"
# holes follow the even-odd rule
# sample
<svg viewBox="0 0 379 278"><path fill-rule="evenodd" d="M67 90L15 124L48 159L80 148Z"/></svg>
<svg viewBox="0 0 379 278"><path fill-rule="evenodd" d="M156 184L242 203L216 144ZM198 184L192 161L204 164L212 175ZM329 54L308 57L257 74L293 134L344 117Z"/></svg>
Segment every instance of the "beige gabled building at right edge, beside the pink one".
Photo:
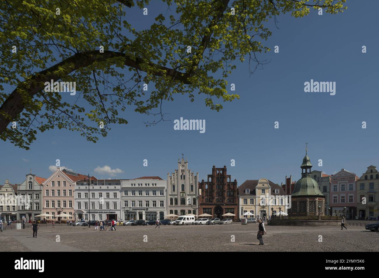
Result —
<svg viewBox="0 0 379 278"><path fill-rule="evenodd" d="M379 172L370 165L357 180L357 214L359 219L379 219Z"/></svg>

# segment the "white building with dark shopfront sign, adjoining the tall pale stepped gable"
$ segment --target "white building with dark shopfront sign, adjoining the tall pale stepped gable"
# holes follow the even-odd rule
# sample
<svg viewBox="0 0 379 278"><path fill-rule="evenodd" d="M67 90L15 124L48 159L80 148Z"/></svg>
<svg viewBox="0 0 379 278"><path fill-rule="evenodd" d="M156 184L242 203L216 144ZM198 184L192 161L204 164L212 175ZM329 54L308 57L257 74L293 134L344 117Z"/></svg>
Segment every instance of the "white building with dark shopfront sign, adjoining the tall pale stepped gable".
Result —
<svg viewBox="0 0 379 278"><path fill-rule="evenodd" d="M124 220L163 220L167 215L167 180L156 176L121 180L121 206Z"/></svg>

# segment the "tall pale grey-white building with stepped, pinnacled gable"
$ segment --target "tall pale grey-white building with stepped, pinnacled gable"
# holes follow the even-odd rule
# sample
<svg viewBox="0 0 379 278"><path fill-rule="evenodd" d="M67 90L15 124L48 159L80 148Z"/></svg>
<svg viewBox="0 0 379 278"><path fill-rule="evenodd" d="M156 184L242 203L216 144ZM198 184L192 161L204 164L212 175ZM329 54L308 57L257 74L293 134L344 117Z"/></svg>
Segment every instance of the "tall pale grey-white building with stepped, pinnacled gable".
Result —
<svg viewBox="0 0 379 278"><path fill-rule="evenodd" d="M198 177L188 169L187 159L178 159L178 169L167 173L169 214L198 214Z"/></svg>

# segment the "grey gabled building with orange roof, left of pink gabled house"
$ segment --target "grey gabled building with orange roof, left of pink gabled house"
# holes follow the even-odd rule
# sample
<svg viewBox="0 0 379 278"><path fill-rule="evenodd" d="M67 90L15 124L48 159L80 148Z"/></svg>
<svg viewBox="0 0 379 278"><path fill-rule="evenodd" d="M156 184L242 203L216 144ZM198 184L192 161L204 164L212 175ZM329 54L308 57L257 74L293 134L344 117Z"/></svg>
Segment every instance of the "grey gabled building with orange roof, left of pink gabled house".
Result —
<svg viewBox="0 0 379 278"><path fill-rule="evenodd" d="M41 217L35 217L42 213L42 183L46 179L37 177L31 173L26 174L26 179L19 183L17 192L20 203L17 207L18 219L26 219L27 222L41 220Z"/></svg>

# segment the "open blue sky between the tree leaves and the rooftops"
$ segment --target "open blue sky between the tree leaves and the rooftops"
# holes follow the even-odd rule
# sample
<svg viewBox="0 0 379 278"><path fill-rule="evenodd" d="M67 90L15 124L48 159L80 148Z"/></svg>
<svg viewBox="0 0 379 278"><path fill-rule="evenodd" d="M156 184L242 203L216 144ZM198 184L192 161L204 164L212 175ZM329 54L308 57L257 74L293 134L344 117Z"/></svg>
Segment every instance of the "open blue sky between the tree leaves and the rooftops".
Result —
<svg viewBox="0 0 379 278"><path fill-rule="evenodd" d="M164 103L167 120L145 127L152 116L140 115L133 109L125 112L127 125L112 127L108 137L94 144L67 130L39 133L29 151L0 141L0 184L5 179L20 183L32 168L33 174L47 178L50 165L60 159L65 166L81 174L98 178L132 179L159 175L177 168L183 153L189 168L206 179L213 165L227 166L228 174L241 185L247 179L266 177L275 183L301 176L299 166L308 142L308 155L313 170L326 174L341 168L358 176L366 167L378 164L377 75L379 56L376 34L377 1L348 1L342 14L309 16L295 19L281 15L276 29L268 23L273 35L265 45L269 53L260 60L271 62L249 76L246 63L236 62L237 69L227 79L236 85L239 100L223 103L215 112L205 107L205 96L196 95L193 103L177 95ZM141 28L149 26L165 9L151 6ZM142 13L142 12L141 12ZM141 22L132 12L130 22ZM150 20L150 21L149 21ZM279 53L274 53L274 46ZM362 45L367 53L362 53ZM304 82L335 81L336 94L305 93ZM205 133L196 130L174 130L175 119L204 119ZM279 129L274 129L274 122ZM367 128L362 129L362 121ZM148 166L143 166L143 160ZM230 160L235 160L235 167ZM318 159L323 166L318 167ZM116 174L94 172L98 166L121 169Z"/></svg>

